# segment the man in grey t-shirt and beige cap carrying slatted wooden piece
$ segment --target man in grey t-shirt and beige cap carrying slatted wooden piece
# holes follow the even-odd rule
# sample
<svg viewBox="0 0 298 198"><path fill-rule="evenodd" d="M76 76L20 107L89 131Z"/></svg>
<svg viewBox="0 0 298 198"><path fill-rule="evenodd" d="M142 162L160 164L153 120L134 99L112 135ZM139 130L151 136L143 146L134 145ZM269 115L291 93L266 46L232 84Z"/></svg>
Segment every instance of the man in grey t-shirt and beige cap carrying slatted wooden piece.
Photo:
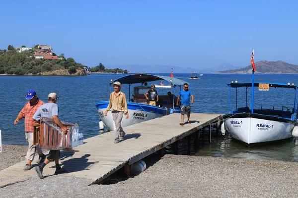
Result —
<svg viewBox="0 0 298 198"><path fill-rule="evenodd" d="M48 96L48 103L41 105L37 109L37 111L33 115L33 119L37 122L40 122L41 117L52 118L53 121L62 129L62 131L65 134L67 134L68 129L65 126L63 126L62 122L58 117L58 105L56 104L57 99L59 99L59 97L56 93L50 93ZM42 174L43 168L51 161L55 161L56 164L55 174L65 172L65 169L59 166L59 154L60 150L50 150L49 155L47 156L45 161L41 165L34 167L34 170L36 171L40 179L44 178Z"/></svg>

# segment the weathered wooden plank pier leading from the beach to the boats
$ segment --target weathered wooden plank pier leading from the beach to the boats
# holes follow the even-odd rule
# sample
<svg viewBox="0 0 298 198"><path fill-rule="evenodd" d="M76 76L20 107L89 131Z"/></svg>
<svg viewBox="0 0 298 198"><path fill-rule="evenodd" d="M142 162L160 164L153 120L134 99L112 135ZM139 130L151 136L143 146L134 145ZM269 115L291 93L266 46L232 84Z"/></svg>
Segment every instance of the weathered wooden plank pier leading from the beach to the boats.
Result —
<svg viewBox="0 0 298 198"><path fill-rule="evenodd" d="M126 139L118 144L114 144L114 131L85 139L83 145L75 147L79 152L61 152L60 163L66 168L63 175L90 179L94 181L92 184L100 183L125 164L133 164L220 118L220 114L192 113L191 124L180 126L181 115L170 114L125 127ZM33 168L23 171L26 161L1 170L0 177L36 175ZM50 162L43 174L50 176L54 172L55 164Z"/></svg>

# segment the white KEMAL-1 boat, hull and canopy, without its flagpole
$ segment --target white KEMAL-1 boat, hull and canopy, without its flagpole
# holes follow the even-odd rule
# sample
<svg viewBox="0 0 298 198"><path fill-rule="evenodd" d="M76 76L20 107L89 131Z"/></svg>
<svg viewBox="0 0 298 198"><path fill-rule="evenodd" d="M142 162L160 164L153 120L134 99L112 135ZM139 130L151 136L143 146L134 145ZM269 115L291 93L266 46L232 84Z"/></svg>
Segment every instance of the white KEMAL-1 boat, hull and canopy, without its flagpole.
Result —
<svg viewBox="0 0 298 198"><path fill-rule="evenodd" d="M249 108L247 106L247 88L250 87L258 88L259 91L266 91L275 88L285 88L288 91L295 91L294 108L288 108L282 106L273 106L272 108ZM259 145L268 142L284 140L292 137L292 130L297 120L297 106L296 96L298 87L294 84L283 84L283 83L230 83L228 84L230 89L230 111L228 114L223 116L224 125L231 137L245 143L247 146ZM237 91L239 88L244 88L246 91L246 106L237 108L237 100L240 98L243 100L244 97L239 97ZM231 89L236 88L236 109L231 110ZM254 89L253 88L253 89ZM253 91L252 91L253 93ZM264 92L263 92L264 93ZM292 92L293 93L293 92ZM260 93L258 93L261 97ZM289 96L289 92L280 92L283 97ZM294 94L294 93L293 93ZM253 94L252 94L253 95ZM273 98L277 100L279 97ZM263 101L258 103L263 105L269 103L269 98L263 97ZM254 99L251 98L252 105ZM285 101L283 99L283 101Z"/></svg>

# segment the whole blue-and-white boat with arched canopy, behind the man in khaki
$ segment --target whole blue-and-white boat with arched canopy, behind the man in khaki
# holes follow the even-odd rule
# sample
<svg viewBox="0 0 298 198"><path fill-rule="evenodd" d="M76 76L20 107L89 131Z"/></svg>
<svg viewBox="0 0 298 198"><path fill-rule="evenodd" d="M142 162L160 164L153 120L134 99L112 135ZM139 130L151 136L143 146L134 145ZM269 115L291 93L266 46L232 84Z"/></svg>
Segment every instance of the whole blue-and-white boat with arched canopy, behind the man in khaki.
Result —
<svg viewBox="0 0 298 198"><path fill-rule="evenodd" d="M160 81L160 80L167 82L169 85L158 86L158 87L155 85L155 88L172 89L173 98L170 99L168 95L158 94L159 101L156 104L157 106L148 105L147 104L148 101L145 97L145 94L151 89L151 87L147 86L148 82ZM175 99L177 98L175 97L175 88L178 87L180 91L181 86L183 86L184 83L187 83L187 82L173 77L156 76L151 74L126 75L116 80L111 80L110 85L112 85L113 82L116 82L116 81L120 82L123 85L127 84L129 86L129 94L126 95L127 98L129 99L129 102L127 102L129 119L125 119L125 118L122 119L122 122L121 122L122 127L144 122L150 119L158 118L170 113L180 113L180 107L175 106ZM139 85L134 87L134 93L132 94L133 98L131 99L130 87L132 84L139 84ZM103 115L108 104L109 104L109 101L97 102L96 108L106 128L109 131L112 131L112 130L115 130L115 123L113 121L111 111L108 111L107 116Z"/></svg>

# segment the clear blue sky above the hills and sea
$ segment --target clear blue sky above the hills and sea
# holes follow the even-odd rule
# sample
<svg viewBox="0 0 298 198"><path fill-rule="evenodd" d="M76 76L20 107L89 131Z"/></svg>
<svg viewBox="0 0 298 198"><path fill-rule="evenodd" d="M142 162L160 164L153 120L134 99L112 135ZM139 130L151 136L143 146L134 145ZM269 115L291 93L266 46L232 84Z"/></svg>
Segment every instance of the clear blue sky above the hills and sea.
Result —
<svg viewBox="0 0 298 198"><path fill-rule="evenodd" d="M295 0L5 0L0 49L50 45L84 65L298 64Z"/></svg>

